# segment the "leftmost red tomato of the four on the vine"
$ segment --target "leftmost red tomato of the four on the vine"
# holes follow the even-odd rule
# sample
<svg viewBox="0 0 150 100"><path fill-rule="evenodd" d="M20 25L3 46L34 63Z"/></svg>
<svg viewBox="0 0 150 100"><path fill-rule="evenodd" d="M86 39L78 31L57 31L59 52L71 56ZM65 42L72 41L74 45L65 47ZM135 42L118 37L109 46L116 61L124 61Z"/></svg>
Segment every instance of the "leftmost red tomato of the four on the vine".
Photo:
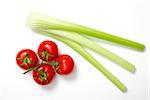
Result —
<svg viewBox="0 0 150 100"><path fill-rule="evenodd" d="M30 49L23 49L18 52L16 62L22 69L34 68L38 62L36 53Z"/></svg>

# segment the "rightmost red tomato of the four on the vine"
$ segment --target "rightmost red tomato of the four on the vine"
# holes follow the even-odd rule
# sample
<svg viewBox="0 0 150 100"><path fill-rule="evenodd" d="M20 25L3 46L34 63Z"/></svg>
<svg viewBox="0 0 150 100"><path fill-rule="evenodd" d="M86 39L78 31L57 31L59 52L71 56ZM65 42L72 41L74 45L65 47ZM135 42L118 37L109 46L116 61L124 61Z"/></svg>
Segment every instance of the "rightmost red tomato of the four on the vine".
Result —
<svg viewBox="0 0 150 100"><path fill-rule="evenodd" d="M55 70L58 74L69 74L74 67L74 61L69 55L60 55L56 62L58 65L55 65Z"/></svg>

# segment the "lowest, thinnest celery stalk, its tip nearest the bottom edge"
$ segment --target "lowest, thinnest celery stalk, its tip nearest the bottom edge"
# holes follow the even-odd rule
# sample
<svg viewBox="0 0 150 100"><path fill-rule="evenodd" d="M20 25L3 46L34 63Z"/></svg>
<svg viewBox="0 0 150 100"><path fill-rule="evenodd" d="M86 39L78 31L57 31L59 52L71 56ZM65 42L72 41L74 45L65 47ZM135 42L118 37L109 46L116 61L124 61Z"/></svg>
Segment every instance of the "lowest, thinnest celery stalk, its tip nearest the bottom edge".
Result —
<svg viewBox="0 0 150 100"><path fill-rule="evenodd" d="M111 72L109 72L103 65L101 65L91 54L89 54L81 45L78 43L71 41L69 39L65 39L63 37L47 34L46 32L40 32L43 35L50 36L54 39L57 39L66 45L70 46L76 52L78 52L82 57L84 57L87 61L89 61L95 68L97 68L105 77L107 77L116 87L118 87L122 92L126 92L126 86L119 81Z"/></svg>

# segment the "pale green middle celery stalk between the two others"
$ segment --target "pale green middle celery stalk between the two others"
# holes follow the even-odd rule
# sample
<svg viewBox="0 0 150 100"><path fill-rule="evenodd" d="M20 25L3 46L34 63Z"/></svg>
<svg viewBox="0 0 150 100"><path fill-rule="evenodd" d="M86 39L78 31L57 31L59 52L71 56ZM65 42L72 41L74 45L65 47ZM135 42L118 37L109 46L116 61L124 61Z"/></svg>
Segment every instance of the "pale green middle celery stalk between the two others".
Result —
<svg viewBox="0 0 150 100"><path fill-rule="evenodd" d="M81 44L87 48L90 48L91 50L99 53L100 55L105 56L106 58L114 61L115 63L121 65L123 68L130 72L135 71L134 65L129 63L128 61L124 60L123 58L119 57L118 55L110 52L109 50L103 48L102 46L96 44L95 42L77 34L77 33L70 33L70 32L64 32L64 31L58 31L58 30L44 30L49 34L55 34L57 36L61 36L64 38L68 38L70 40L73 40L77 42L78 44Z"/></svg>

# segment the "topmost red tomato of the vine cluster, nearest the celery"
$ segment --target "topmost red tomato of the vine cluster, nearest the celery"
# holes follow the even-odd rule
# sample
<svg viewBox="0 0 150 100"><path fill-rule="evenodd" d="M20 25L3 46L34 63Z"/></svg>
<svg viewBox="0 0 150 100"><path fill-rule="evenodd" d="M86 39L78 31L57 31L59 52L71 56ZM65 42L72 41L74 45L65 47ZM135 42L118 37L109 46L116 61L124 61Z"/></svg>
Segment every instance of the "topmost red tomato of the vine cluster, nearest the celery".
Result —
<svg viewBox="0 0 150 100"><path fill-rule="evenodd" d="M58 47L52 41L43 41L39 45L38 55L44 61L52 61L58 56Z"/></svg>

